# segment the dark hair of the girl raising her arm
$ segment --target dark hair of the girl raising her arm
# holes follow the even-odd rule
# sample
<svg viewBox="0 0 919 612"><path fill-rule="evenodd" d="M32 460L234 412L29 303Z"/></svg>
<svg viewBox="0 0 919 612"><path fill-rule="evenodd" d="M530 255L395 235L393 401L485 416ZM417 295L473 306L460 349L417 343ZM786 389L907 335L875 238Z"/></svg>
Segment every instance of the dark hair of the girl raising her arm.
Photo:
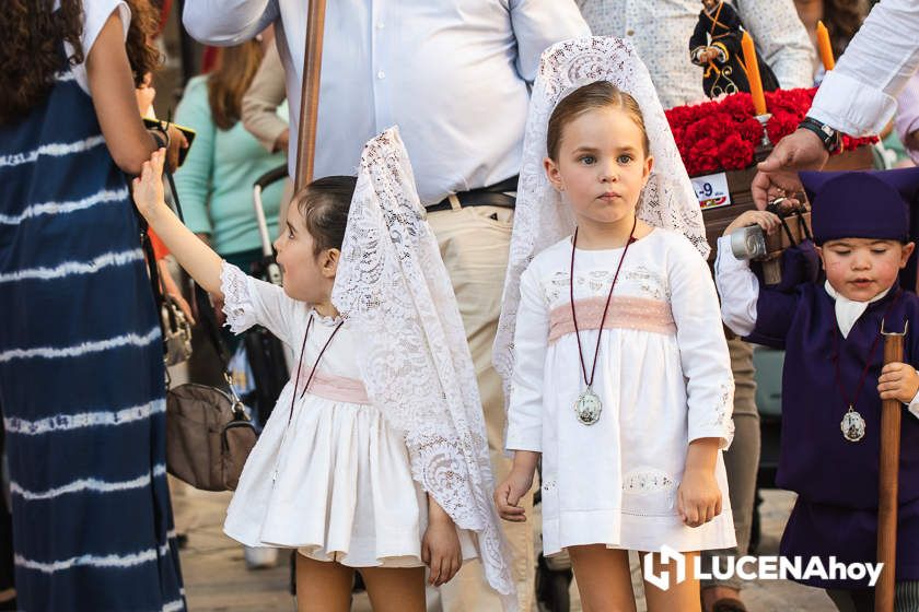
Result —
<svg viewBox="0 0 919 612"><path fill-rule="evenodd" d="M306 231L313 236L315 252L340 249L348 226L348 210L354 187L353 176L326 176L317 178L294 196L291 205L296 205L303 215Z"/></svg>

